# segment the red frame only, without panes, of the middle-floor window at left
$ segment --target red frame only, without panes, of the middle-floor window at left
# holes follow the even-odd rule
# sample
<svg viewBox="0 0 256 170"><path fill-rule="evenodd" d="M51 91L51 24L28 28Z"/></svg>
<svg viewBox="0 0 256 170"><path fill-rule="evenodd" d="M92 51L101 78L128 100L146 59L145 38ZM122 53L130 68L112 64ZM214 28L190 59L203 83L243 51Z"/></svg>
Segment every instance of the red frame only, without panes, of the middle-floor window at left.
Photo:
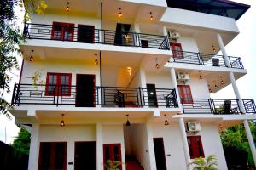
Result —
<svg viewBox="0 0 256 170"><path fill-rule="evenodd" d="M61 77L62 76L68 76L69 80L68 80L68 92L67 94L62 94L59 92L57 92L57 90L55 90L55 93L53 94L49 94L49 86L54 86L54 84L49 84L49 76L57 76L57 80L56 80L56 86L62 86L61 84ZM72 74L71 73L57 73L57 72L47 72L46 75L46 86L45 86L45 96L71 96L71 82L72 82ZM63 85L64 86L64 85ZM59 88L59 90L61 90L61 88Z"/></svg>

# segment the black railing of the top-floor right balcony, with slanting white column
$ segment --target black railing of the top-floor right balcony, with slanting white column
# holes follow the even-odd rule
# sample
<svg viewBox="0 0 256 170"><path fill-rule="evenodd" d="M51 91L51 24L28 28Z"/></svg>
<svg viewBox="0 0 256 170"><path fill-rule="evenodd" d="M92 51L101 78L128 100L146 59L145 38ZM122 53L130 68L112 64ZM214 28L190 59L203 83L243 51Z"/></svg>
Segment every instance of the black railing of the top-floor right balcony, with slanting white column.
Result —
<svg viewBox="0 0 256 170"><path fill-rule="evenodd" d="M173 60L177 63L187 63L194 65L212 65L228 67L224 61L224 55L201 54L188 51L172 50ZM240 57L228 57L231 68L243 69Z"/></svg>

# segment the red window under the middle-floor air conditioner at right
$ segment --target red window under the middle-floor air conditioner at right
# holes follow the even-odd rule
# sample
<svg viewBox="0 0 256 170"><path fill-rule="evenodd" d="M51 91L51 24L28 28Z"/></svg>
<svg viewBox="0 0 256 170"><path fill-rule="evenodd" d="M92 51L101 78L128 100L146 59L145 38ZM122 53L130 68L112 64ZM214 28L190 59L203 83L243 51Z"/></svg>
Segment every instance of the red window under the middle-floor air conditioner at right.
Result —
<svg viewBox="0 0 256 170"><path fill-rule="evenodd" d="M193 97L189 85L177 85L178 93L183 104L193 104Z"/></svg>

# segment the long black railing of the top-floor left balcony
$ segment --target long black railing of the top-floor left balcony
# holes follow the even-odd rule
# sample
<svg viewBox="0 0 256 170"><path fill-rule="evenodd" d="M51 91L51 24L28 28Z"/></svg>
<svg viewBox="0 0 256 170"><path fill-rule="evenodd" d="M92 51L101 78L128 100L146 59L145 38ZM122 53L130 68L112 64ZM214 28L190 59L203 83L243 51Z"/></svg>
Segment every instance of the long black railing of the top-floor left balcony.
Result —
<svg viewBox="0 0 256 170"><path fill-rule="evenodd" d="M24 36L29 39L67 42L102 43L116 46L158 48L169 50L166 36L130 31L110 31L84 27L54 26L26 23Z"/></svg>

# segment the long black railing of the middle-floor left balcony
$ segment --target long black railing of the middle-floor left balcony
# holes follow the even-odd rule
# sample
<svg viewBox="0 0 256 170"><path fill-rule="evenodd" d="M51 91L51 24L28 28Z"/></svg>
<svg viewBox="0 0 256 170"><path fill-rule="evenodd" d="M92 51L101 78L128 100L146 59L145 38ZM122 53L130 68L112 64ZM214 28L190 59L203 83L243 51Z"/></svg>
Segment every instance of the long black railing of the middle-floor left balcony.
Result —
<svg viewBox="0 0 256 170"><path fill-rule="evenodd" d="M76 107L167 107L175 108L175 89L81 88L77 86L15 84L12 105L73 105Z"/></svg>

